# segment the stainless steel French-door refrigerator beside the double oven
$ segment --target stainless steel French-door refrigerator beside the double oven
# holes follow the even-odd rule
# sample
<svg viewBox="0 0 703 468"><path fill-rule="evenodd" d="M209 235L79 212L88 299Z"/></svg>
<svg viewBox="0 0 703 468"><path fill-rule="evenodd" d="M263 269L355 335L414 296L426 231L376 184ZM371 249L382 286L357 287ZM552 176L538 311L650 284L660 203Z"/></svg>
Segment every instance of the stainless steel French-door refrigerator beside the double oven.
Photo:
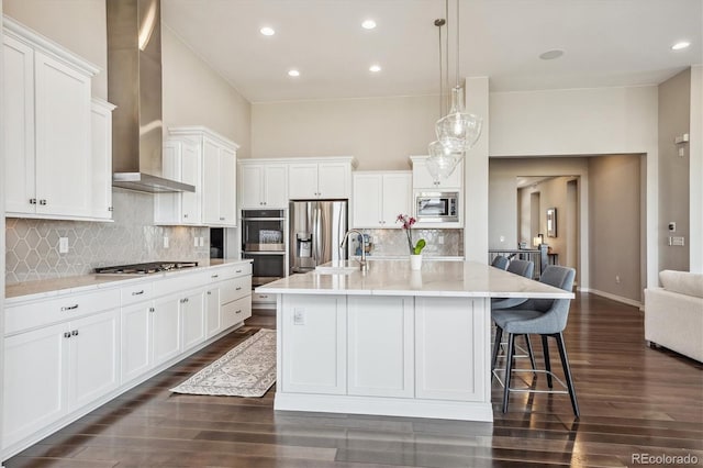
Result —
<svg viewBox="0 0 703 468"><path fill-rule="evenodd" d="M347 258L339 247L347 232L346 200L291 201L289 216L291 275Z"/></svg>

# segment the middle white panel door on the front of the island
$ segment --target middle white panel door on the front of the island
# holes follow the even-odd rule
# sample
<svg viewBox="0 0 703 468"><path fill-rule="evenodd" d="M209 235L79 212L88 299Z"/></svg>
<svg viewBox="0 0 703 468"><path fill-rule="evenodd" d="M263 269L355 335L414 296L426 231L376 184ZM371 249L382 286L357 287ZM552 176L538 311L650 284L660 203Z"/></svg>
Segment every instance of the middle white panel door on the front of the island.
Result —
<svg viewBox="0 0 703 468"><path fill-rule="evenodd" d="M349 394L414 394L413 298L349 296Z"/></svg>

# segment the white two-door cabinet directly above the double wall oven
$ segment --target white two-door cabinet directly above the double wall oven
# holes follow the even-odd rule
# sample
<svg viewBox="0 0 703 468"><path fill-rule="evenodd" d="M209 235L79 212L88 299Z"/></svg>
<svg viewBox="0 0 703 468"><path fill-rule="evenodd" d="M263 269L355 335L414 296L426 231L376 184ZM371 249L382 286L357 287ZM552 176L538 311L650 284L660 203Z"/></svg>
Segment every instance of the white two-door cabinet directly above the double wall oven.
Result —
<svg viewBox="0 0 703 468"><path fill-rule="evenodd" d="M239 201L243 209L288 208L288 166L239 160Z"/></svg>

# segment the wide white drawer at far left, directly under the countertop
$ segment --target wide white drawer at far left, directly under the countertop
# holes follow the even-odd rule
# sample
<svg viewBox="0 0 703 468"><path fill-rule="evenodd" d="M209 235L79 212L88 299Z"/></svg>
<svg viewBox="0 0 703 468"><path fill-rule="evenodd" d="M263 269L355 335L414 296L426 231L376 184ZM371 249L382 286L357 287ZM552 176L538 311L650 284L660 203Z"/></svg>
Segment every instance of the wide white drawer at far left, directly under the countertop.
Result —
<svg viewBox="0 0 703 468"><path fill-rule="evenodd" d="M4 311L4 333L13 334L119 307L119 289L67 294L44 301L10 305Z"/></svg>

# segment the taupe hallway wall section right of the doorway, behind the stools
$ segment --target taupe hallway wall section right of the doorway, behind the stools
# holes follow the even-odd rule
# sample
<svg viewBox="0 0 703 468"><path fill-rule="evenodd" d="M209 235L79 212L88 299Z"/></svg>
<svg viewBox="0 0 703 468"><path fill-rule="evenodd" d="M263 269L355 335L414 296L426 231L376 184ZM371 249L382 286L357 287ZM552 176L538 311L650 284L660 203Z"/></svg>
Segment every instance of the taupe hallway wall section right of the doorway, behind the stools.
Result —
<svg viewBox="0 0 703 468"><path fill-rule="evenodd" d="M590 289L637 302L643 300L640 159L639 155L589 158Z"/></svg>

